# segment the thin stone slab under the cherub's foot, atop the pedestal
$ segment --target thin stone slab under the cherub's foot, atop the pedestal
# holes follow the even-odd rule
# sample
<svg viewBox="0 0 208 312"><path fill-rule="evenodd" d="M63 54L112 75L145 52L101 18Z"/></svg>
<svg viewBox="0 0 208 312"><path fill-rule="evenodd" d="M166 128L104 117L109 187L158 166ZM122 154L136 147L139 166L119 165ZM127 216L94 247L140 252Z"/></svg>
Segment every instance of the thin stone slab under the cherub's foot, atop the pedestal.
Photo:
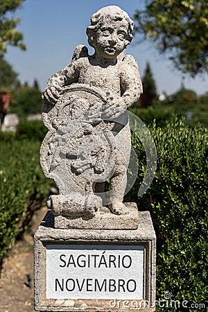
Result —
<svg viewBox="0 0 208 312"><path fill-rule="evenodd" d="M117 216L107 207L101 207L93 218L85 216L69 217L55 216L56 229L137 229L139 225L139 211L135 202L125 202L129 214Z"/></svg>

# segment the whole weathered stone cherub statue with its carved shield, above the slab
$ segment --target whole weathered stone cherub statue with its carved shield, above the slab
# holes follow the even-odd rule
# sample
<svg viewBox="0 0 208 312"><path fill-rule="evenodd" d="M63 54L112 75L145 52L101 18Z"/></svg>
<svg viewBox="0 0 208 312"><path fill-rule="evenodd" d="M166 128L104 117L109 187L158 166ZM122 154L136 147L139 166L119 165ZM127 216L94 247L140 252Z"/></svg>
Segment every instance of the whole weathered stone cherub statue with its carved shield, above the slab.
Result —
<svg viewBox="0 0 208 312"><path fill-rule="evenodd" d="M94 54L77 46L71 63L49 78L43 92L49 132L40 160L59 188L48 202L55 216L93 218L103 206L112 214L128 214L123 204L131 148L126 110L142 92L137 62L123 55L132 29L121 8L98 10L86 31Z"/></svg>

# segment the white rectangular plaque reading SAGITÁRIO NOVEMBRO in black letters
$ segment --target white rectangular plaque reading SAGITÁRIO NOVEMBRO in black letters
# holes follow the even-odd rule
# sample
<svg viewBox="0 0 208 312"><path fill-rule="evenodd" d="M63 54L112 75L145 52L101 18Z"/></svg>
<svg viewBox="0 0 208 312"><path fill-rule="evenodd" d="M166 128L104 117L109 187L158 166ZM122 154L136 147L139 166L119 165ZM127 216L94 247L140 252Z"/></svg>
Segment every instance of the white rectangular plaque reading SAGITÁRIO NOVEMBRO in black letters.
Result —
<svg viewBox="0 0 208 312"><path fill-rule="evenodd" d="M144 298L144 247L46 245L47 299Z"/></svg>

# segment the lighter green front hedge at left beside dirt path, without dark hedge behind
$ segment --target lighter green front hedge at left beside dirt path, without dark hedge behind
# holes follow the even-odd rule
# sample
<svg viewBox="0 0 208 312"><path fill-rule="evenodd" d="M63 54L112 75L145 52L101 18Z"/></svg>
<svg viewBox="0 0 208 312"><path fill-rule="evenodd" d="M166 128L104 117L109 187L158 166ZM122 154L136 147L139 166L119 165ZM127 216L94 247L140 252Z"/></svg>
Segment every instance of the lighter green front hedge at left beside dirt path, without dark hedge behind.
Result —
<svg viewBox="0 0 208 312"><path fill-rule="evenodd" d="M19 222L27 217L23 212L32 198L41 202L49 193L51 181L44 177L40 168L39 150L39 141L13 138L9 144L1 141L0 263L18 235Z"/></svg>

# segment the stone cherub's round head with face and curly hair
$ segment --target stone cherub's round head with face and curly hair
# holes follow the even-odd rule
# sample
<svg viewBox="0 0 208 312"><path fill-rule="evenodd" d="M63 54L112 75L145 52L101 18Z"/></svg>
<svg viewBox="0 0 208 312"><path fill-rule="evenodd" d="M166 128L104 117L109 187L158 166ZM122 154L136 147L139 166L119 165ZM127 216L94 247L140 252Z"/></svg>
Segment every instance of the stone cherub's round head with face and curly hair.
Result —
<svg viewBox="0 0 208 312"><path fill-rule="evenodd" d="M126 14L126 13L125 13ZM96 55L106 60L114 60L132 40L133 22L123 10L107 8L92 15L91 26L87 28L88 42Z"/></svg>

